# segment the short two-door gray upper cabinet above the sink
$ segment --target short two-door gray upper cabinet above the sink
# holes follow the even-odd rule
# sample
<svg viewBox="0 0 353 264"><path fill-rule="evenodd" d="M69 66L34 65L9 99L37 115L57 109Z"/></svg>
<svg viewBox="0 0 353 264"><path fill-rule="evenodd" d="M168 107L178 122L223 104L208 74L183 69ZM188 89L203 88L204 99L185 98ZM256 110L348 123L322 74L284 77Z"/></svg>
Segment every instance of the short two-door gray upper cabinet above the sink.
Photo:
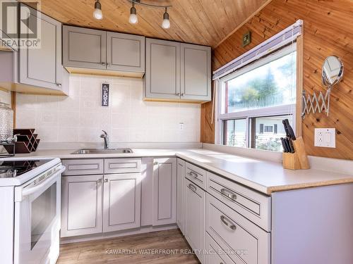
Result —
<svg viewBox="0 0 353 264"><path fill-rule="evenodd" d="M145 73L145 37L64 26L63 45L63 63L71 73Z"/></svg>

